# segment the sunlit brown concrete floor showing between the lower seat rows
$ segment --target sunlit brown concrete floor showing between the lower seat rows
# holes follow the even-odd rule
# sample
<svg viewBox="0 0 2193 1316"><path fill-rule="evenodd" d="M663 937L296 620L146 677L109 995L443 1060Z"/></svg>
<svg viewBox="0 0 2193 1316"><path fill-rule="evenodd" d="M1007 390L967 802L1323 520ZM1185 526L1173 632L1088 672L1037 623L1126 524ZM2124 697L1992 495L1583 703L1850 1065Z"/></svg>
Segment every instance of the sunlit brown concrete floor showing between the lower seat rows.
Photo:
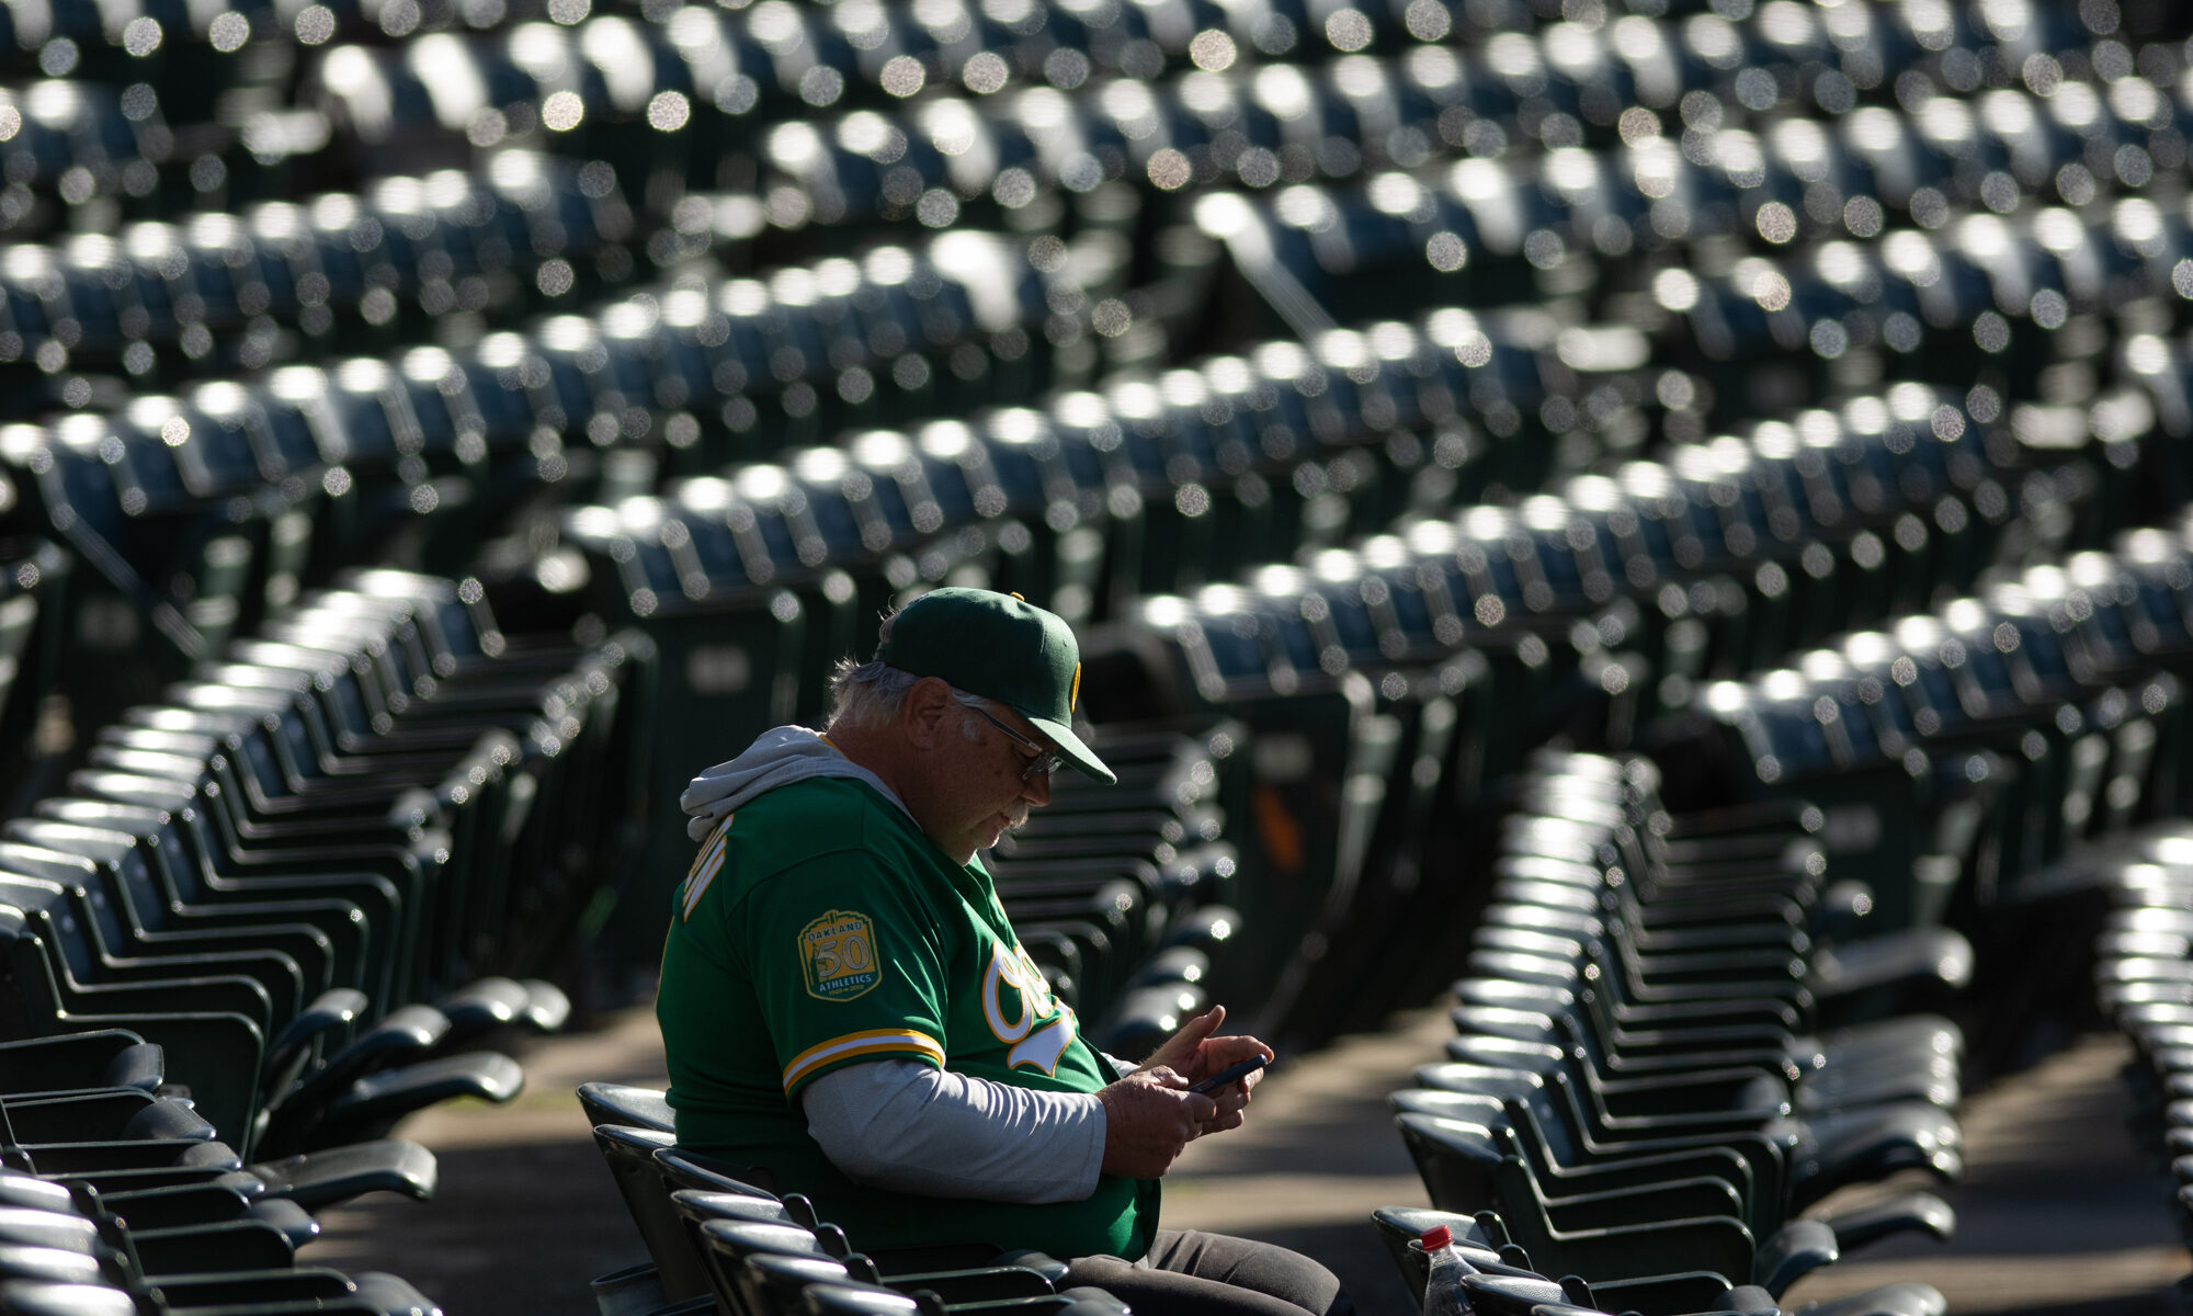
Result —
<svg viewBox="0 0 2193 1316"><path fill-rule="evenodd" d="M1189 1147L1167 1178L1164 1219L1300 1248L1360 1296L1364 1316L1406 1316L1368 1213L1421 1202L1386 1092L1439 1053L1443 1009L1384 1033L1285 1057L1237 1134ZM2160 1209L2167 1184L2136 1156L2116 1077L2118 1037L2088 1037L1965 1103L1969 1173L1943 1195L1952 1246L1890 1241L1794 1287L1785 1307L1897 1279L1936 1285L1956 1316L2050 1312L2171 1316L2193 1259ZM366 1200L322 1217L307 1255L340 1270L399 1270L450 1316L592 1316L588 1279L640 1259L638 1237L572 1090L588 1079L660 1086L654 1011L605 1016L524 1055L526 1092L504 1108L450 1103L399 1134L441 1158L432 1202ZM1840 1200L1838 1200L1840 1202Z"/></svg>

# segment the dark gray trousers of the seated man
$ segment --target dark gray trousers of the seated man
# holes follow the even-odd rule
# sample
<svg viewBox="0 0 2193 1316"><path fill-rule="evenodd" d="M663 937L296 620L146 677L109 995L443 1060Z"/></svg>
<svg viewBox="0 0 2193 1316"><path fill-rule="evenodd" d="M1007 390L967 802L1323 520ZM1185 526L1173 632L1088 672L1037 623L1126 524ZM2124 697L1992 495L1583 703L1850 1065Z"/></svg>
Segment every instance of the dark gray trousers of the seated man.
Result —
<svg viewBox="0 0 2193 1316"><path fill-rule="evenodd" d="M1309 1257L1197 1230L1160 1228L1140 1261L1079 1257L1059 1287L1083 1283L1134 1316L1355 1316L1333 1272Z"/></svg>

